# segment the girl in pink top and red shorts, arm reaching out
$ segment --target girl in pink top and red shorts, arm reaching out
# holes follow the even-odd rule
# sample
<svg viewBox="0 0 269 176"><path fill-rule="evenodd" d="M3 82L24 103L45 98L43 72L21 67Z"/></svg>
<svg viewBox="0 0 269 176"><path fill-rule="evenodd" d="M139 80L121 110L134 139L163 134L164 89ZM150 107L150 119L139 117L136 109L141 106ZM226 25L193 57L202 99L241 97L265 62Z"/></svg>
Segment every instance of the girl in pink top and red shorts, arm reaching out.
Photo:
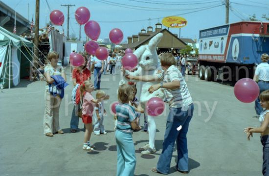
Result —
<svg viewBox="0 0 269 176"><path fill-rule="evenodd" d="M80 99L82 100L82 121L85 123L85 134L84 134L84 144L83 150L92 151L94 146L90 145L90 136L92 132L92 114L93 109L96 104L101 102L104 99L109 99L109 96L106 95L100 99L94 99L91 95L91 92L94 90L93 84L86 80L80 86Z"/></svg>

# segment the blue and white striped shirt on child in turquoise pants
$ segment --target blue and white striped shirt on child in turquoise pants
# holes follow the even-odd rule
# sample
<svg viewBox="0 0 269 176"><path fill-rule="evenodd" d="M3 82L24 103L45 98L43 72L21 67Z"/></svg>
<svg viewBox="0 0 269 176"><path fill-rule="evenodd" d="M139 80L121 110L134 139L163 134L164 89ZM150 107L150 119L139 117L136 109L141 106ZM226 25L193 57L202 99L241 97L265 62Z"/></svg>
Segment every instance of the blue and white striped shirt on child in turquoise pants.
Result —
<svg viewBox="0 0 269 176"><path fill-rule="evenodd" d="M134 120L135 112L134 107L127 103L119 103L116 105L116 116L117 116L117 130L123 133L133 133L131 127L131 121Z"/></svg>

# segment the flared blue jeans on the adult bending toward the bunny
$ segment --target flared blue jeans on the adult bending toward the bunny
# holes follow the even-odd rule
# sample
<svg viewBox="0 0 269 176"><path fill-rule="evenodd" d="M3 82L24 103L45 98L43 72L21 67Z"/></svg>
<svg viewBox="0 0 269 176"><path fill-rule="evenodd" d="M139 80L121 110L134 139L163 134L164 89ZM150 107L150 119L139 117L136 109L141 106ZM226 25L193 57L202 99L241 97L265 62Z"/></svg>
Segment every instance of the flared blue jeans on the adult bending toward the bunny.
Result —
<svg viewBox="0 0 269 176"><path fill-rule="evenodd" d="M180 171L188 171L188 148L187 148L187 132L190 120L193 116L193 104L186 111L181 108L170 108L166 122L164 140L162 143L162 152L157 162L157 171L162 174L168 174L170 163L173 155L175 141L177 141L178 161L177 168ZM170 116L174 118L170 118ZM170 120L172 119L172 120ZM177 128L181 125L181 130Z"/></svg>

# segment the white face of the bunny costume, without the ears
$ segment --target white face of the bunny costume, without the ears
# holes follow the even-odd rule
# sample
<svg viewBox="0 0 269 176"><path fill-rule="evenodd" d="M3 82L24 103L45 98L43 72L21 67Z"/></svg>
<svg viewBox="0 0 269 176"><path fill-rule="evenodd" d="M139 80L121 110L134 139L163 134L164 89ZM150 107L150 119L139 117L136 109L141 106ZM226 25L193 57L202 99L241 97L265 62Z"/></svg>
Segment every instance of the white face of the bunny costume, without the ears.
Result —
<svg viewBox="0 0 269 176"><path fill-rule="evenodd" d="M157 51L151 51L146 47L146 50L139 58L139 66L143 70L155 70L158 65L158 56Z"/></svg>

